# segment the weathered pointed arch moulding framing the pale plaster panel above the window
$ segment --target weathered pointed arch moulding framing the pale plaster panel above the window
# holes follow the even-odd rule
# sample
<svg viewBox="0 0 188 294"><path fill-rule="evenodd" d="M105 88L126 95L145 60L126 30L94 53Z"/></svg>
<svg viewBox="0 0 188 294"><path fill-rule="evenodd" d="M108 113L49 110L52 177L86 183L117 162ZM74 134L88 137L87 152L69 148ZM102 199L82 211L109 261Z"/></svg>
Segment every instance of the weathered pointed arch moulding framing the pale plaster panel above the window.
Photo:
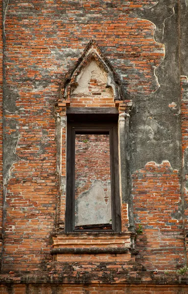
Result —
<svg viewBox="0 0 188 294"><path fill-rule="evenodd" d="M101 82L105 83L105 88L111 89L114 101L125 99L118 73L116 73L109 60L104 56L97 43L94 40L91 40L82 56L77 60L74 68L66 74L59 102L66 101L66 104L69 105L73 93L76 91L79 93L79 91L75 89L84 89L84 85L82 84L87 84L85 77L89 70L91 71L91 69L89 69L89 65L92 62L95 64L95 68L98 67L99 76L101 76ZM86 73L86 71L88 72ZM82 84L80 85L80 83ZM87 92L87 89L85 91Z"/></svg>

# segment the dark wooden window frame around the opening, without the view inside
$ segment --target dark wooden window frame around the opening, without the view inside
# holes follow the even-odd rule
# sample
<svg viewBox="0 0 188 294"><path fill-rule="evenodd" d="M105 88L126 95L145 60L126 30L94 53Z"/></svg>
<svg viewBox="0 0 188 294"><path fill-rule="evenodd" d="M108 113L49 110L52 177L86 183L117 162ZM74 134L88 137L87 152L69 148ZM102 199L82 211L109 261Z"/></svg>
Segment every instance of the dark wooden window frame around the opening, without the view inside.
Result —
<svg viewBox="0 0 188 294"><path fill-rule="evenodd" d="M110 169L111 169L111 203L112 229L75 230L75 135L77 134L109 134L110 136ZM67 152L66 152L66 232L121 232L121 205L119 195L119 159L118 159L118 122L113 123L79 123L77 120L67 123Z"/></svg>

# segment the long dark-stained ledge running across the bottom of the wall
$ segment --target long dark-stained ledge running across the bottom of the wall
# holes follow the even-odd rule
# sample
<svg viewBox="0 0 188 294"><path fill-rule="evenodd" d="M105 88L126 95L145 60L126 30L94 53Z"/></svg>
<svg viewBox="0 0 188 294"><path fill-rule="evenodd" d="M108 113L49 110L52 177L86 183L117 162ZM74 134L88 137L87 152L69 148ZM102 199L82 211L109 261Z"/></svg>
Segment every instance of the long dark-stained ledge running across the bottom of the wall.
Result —
<svg viewBox="0 0 188 294"><path fill-rule="evenodd" d="M118 270L118 269L117 269ZM0 285L63 285L63 284L105 284L105 285L163 285L164 287L174 287L175 285L187 285L188 277L179 276L177 274L158 274L155 275L151 272L130 272L124 273L122 271L117 273L106 273L103 276L100 274L79 272L79 274L68 275L65 273L51 273L35 271L34 273L15 273L15 274L1 274ZM179 288L178 288L179 289ZM179 289L180 290L180 289ZM188 289L187 289L188 291ZM183 292L182 292L183 293ZM187 293L187 292L185 292Z"/></svg>

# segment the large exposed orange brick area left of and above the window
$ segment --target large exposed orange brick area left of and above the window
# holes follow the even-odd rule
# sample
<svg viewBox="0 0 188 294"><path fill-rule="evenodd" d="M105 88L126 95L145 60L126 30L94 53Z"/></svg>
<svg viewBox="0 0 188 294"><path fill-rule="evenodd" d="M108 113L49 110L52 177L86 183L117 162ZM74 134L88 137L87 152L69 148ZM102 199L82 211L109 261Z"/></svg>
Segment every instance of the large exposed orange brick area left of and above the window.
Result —
<svg viewBox="0 0 188 294"><path fill-rule="evenodd" d="M62 73L86 44L96 39L130 93L151 94L158 87L154 68L164 48L153 39L155 26L134 12L151 1L119 5L19 0L7 6L5 131L9 144L14 139L10 156L17 157L7 167L4 270L50 258L58 194L53 105Z"/></svg>

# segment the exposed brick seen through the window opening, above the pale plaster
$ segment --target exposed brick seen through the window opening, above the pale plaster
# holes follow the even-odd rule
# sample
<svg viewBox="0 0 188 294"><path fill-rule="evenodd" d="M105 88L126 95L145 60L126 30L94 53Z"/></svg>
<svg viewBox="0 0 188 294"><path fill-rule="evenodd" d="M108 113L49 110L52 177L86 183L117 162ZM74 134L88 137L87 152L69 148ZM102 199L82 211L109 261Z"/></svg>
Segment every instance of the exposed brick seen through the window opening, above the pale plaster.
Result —
<svg viewBox="0 0 188 294"><path fill-rule="evenodd" d="M90 189L94 180L104 185L104 198L108 202L110 183L109 135L76 135L75 140L75 198Z"/></svg>

